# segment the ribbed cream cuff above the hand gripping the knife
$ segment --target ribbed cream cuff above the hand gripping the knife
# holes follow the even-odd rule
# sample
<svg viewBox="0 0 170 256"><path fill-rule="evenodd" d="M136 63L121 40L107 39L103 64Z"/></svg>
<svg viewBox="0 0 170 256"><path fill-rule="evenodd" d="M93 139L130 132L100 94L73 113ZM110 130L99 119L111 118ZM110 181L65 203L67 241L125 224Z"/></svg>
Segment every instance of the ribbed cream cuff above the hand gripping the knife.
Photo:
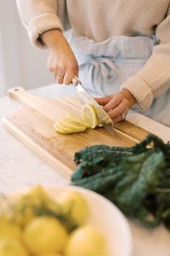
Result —
<svg viewBox="0 0 170 256"><path fill-rule="evenodd" d="M40 35L48 30L58 29L63 32L61 21L55 14L41 14L31 20L27 33L33 46L37 48L47 48L40 40Z"/></svg>

